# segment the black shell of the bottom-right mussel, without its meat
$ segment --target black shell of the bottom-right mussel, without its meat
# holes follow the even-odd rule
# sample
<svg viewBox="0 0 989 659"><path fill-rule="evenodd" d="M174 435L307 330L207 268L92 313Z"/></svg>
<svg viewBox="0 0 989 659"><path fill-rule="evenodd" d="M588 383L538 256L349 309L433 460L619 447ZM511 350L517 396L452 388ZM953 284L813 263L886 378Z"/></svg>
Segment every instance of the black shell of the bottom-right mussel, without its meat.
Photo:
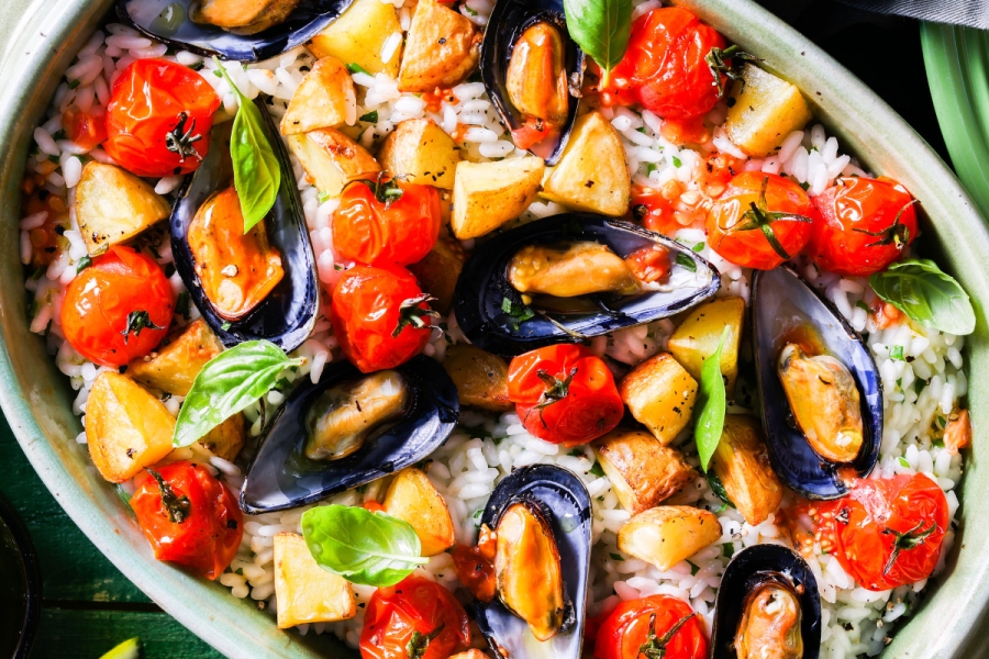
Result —
<svg viewBox="0 0 989 659"><path fill-rule="evenodd" d="M818 592L818 581L800 555L780 545L755 545L743 549L725 569L714 605L712 659L736 657L735 634L742 622L747 595L770 582L779 583L797 595L800 602L803 659L818 659L821 651L821 595Z"/></svg>

